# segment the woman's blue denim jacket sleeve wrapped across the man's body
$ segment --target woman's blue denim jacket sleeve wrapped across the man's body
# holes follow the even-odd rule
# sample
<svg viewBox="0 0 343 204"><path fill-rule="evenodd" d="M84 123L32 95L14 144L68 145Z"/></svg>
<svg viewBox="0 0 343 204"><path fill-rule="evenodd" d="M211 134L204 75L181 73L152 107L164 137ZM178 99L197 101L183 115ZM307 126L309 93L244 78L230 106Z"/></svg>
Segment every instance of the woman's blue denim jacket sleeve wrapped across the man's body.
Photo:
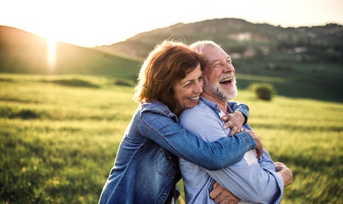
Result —
<svg viewBox="0 0 343 204"><path fill-rule="evenodd" d="M242 159L256 143L247 132L224 137L216 142L205 142L182 128L172 118L145 111L138 123L141 135L153 140L171 154L200 165L207 170L218 170Z"/></svg>

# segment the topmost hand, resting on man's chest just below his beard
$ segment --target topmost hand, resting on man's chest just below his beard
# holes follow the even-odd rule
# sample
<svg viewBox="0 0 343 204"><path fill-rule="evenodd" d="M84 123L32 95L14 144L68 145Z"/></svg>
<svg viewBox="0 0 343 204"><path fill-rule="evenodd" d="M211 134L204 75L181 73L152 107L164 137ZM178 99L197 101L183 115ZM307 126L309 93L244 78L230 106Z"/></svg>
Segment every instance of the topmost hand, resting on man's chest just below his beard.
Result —
<svg viewBox="0 0 343 204"><path fill-rule="evenodd" d="M237 111L233 114L226 114L221 118L221 120L226 122L224 124L225 129L231 128L229 136L242 132L242 125L245 121L242 112Z"/></svg>

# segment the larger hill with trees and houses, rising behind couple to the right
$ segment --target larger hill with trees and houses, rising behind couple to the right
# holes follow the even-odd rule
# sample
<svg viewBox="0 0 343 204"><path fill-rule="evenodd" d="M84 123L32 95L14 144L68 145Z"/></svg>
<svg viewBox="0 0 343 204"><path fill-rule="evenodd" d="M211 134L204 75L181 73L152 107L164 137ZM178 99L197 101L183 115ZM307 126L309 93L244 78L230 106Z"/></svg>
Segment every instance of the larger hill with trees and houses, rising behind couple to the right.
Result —
<svg viewBox="0 0 343 204"><path fill-rule="evenodd" d="M343 26L277 27L225 18L179 23L96 47L145 57L164 39L219 43L233 58L238 88L272 83L278 95L343 102Z"/></svg>

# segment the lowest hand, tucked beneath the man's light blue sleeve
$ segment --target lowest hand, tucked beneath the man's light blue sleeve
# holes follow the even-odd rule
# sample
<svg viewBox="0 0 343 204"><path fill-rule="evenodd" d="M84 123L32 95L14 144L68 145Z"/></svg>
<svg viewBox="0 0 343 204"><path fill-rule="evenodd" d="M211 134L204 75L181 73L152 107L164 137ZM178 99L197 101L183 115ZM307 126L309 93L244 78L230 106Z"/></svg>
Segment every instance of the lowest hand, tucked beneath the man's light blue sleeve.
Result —
<svg viewBox="0 0 343 204"><path fill-rule="evenodd" d="M221 204L240 202L240 198L237 198L233 193L224 189L224 187L217 182L214 182L209 197L211 197L214 202Z"/></svg>

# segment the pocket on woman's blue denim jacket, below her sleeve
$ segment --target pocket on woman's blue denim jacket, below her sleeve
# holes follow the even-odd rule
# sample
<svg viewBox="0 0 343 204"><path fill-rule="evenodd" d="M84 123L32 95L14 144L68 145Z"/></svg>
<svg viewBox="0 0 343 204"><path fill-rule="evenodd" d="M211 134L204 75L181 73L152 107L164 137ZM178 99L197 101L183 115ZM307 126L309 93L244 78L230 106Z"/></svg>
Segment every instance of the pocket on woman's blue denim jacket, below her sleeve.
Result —
<svg viewBox="0 0 343 204"><path fill-rule="evenodd" d="M155 168L162 177L167 177L174 170L174 158L172 154L166 154L164 149L159 149L155 156Z"/></svg>

